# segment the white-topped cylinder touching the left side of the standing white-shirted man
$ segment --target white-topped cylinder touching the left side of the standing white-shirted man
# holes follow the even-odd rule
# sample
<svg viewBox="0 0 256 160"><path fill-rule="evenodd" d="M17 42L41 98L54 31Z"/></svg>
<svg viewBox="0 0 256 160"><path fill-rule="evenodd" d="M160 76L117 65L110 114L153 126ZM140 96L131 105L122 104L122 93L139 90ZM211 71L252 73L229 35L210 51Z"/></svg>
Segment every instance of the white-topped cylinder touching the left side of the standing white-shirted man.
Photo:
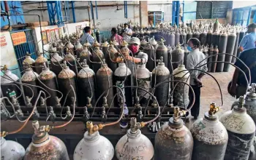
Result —
<svg viewBox="0 0 256 160"><path fill-rule="evenodd" d="M185 65L178 65L173 71L173 80L184 81L189 84L189 71L186 71ZM189 105L189 86L184 83L174 81L173 86L173 105L187 108Z"/></svg>

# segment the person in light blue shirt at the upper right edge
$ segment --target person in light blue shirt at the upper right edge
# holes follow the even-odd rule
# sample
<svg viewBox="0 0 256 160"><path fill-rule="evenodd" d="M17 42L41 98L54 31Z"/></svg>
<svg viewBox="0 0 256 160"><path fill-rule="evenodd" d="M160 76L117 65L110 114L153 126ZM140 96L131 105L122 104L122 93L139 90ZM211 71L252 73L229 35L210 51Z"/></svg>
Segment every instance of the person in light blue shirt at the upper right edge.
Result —
<svg viewBox="0 0 256 160"><path fill-rule="evenodd" d="M256 41L256 24L252 23L247 26L247 33L239 44L239 51L243 52L246 49L255 47Z"/></svg>

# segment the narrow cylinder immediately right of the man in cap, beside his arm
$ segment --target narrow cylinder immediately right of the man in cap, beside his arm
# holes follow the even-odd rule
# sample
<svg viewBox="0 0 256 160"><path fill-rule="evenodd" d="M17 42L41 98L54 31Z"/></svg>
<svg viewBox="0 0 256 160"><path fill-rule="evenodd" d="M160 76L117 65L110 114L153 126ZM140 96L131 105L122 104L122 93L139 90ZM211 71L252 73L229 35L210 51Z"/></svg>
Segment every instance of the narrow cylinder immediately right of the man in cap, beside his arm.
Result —
<svg viewBox="0 0 256 160"><path fill-rule="evenodd" d="M146 68L148 71L153 71L154 69L154 47L150 43L146 44L143 52L148 55L148 62L146 63ZM168 59L169 60L169 59Z"/></svg>

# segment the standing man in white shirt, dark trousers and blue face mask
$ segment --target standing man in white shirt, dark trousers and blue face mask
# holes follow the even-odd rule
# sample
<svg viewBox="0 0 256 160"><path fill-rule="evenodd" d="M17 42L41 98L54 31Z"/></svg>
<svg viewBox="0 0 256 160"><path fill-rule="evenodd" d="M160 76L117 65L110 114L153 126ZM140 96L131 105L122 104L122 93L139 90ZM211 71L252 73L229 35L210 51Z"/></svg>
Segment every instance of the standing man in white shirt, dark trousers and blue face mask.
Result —
<svg viewBox="0 0 256 160"><path fill-rule="evenodd" d="M200 41L198 39L192 38L187 41L187 49L190 51L187 56L187 69L194 69L196 66L203 65L207 63L206 55L203 52L199 51ZM201 62L203 60L203 62ZM201 62L201 63L200 63ZM198 64L200 63L200 64ZM207 65L200 66L199 68L202 71L207 71ZM191 115L194 116L194 119L197 119L200 112L200 88L202 85L202 77L205 73L197 70L192 70L190 72L190 82L192 89L195 92L195 103L191 108ZM191 89L189 90L189 105L192 103L193 95Z"/></svg>

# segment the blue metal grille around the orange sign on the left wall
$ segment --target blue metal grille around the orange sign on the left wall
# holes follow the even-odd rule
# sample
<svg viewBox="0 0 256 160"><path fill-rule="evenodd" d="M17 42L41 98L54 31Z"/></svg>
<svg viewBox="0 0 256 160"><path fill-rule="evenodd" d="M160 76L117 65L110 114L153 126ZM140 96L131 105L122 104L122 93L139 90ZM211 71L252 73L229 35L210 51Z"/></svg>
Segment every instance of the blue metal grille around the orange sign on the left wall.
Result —
<svg viewBox="0 0 256 160"><path fill-rule="evenodd" d="M26 52L29 52L31 54L31 57L35 60L37 58L36 53L36 47L34 43L34 38L33 38L33 32L31 29L25 29L25 30L20 30L20 31L12 31L12 33L17 33L17 32L25 32L26 34L26 43L23 44L18 44L14 46L15 49L15 55L18 60L18 66L20 68L20 73L23 72L23 65L22 62L25 60Z"/></svg>

